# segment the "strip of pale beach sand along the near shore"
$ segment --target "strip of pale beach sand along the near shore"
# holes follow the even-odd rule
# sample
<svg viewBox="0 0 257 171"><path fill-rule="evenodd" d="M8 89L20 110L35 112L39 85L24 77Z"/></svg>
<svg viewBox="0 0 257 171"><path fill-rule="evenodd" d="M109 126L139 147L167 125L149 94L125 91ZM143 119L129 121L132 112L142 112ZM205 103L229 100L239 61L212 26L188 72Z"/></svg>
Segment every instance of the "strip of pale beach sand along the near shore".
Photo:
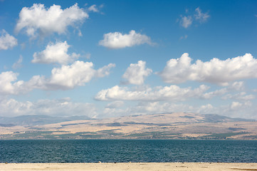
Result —
<svg viewBox="0 0 257 171"><path fill-rule="evenodd" d="M0 163L0 170L256 170L257 163L224 162L132 162L132 163Z"/></svg>

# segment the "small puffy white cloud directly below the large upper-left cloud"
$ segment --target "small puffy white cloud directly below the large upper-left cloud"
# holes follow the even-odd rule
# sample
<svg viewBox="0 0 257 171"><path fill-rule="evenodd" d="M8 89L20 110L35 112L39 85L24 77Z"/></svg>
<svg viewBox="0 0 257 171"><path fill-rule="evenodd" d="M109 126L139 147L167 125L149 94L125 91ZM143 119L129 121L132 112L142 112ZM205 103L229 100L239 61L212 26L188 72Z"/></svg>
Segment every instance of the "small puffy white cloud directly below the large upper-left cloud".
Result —
<svg viewBox="0 0 257 171"><path fill-rule="evenodd" d="M33 54L32 63L61 63L67 64L75 61L80 55L76 53L68 54L68 48L70 46L66 41L48 43L46 49Z"/></svg>

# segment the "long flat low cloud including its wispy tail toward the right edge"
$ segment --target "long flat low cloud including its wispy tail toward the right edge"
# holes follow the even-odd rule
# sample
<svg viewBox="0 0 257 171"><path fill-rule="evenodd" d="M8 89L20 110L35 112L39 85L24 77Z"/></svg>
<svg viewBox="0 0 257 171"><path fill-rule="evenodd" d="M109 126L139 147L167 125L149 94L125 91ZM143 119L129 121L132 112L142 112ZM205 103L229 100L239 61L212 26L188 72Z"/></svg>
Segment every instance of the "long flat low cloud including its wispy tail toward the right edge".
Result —
<svg viewBox="0 0 257 171"><path fill-rule="evenodd" d="M194 89L192 89L191 87L180 88L179 86L175 85L164 87L157 86L154 88L150 88L148 86L140 86L134 88L114 86L112 88L100 90L100 92L95 95L95 99L134 101L182 101L189 100L189 98L198 98L204 100L209 100L215 97L221 98L223 100L229 98L234 98L236 100L252 100L255 98L254 95L245 95L245 93L238 93L236 95L228 94L238 91L237 87L234 87L236 83L238 82L231 83L226 88L221 88L209 92L206 91L209 90L210 87L205 85L201 85L199 86L199 88Z"/></svg>

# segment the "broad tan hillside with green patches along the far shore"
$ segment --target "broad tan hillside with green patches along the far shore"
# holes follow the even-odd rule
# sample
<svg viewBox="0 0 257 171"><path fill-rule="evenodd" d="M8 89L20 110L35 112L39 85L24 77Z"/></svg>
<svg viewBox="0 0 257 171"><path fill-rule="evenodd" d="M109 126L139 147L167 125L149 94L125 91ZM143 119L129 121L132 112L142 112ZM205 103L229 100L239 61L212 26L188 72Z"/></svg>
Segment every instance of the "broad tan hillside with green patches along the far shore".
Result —
<svg viewBox="0 0 257 171"><path fill-rule="evenodd" d="M71 118L70 118L71 119ZM83 119L83 118L81 118ZM38 120L40 121L40 120ZM256 120L195 113L2 126L1 139L257 139ZM38 122L37 122L38 123ZM40 123L40 122L39 122Z"/></svg>

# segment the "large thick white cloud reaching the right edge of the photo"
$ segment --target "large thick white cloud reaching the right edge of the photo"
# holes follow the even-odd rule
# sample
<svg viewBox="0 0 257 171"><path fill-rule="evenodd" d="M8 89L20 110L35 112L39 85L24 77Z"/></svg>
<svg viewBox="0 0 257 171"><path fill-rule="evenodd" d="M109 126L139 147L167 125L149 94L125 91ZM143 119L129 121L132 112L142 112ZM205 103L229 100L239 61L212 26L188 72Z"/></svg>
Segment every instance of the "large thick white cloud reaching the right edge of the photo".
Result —
<svg viewBox="0 0 257 171"><path fill-rule="evenodd" d="M257 78L257 59L250 53L236 58L221 61L213 58L211 61L197 60L191 63L188 53L180 58L170 59L164 70L159 74L165 83L183 83L199 81L228 86L229 82L246 78Z"/></svg>

